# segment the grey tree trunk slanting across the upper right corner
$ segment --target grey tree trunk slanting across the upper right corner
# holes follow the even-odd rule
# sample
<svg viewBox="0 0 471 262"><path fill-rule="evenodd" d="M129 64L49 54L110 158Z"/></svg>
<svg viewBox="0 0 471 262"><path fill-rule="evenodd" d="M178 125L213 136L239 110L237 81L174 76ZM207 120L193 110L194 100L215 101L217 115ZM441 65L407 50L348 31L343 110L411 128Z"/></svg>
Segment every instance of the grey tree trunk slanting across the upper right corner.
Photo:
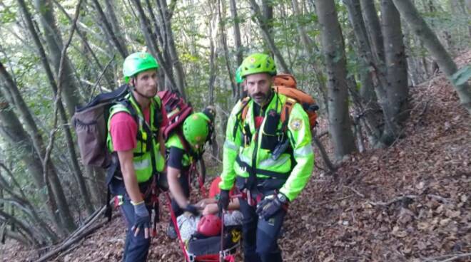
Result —
<svg viewBox="0 0 471 262"><path fill-rule="evenodd" d="M410 26L412 31L419 36L422 43L424 43L427 50L436 59L438 65L443 70L448 78L451 78L457 71L457 66L452 60L450 55L443 48L437 36L433 33L432 29L427 26L425 20L422 19L415 6L409 0L393 0L400 15ZM455 90L460 97L461 104L471 114L471 88L467 83L462 85L455 85Z"/></svg>

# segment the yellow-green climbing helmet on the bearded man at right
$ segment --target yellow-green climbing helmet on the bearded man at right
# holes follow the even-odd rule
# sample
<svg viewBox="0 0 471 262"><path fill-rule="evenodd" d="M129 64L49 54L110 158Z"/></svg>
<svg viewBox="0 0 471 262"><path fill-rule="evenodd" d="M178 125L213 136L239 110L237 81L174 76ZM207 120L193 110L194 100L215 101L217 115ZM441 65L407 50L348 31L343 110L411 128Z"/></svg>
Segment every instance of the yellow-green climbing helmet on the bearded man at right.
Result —
<svg viewBox="0 0 471 262"><path fill-rule="evenodd" d="M265 53L253 53L242 61L240 65L240 77L255 73L268 73L276 75L276 66L273 58Z"/></svg>

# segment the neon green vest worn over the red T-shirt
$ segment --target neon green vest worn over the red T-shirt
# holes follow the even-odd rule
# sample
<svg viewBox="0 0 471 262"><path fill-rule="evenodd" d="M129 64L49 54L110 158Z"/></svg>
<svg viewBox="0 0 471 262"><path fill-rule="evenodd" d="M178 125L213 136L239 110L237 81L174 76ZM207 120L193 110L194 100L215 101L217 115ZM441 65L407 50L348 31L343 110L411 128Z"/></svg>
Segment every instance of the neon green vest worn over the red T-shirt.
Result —
<svg viewBox="0 0 471 262"><path fill-rule="evenodd" d="M136 120L138 124L137 144L136 148L133 150L134 171L136 172L138 183L147 182L151 179L153 173L162 172L163 167L165 167L165 159L161 154L160 144L158 142L158 128L160 128L160 123L155 120L155 114L161 110L161 100L158 97L151 100L149 125L147 125L141 112L141 108L134 98L132 98L131 94L126 95L126 99L133 107L134 112L136 112ZM110 120L117 112L128 112L128 114L133 115L133 113L130 112L123 103L117 103L110 108L110 116L108 117L108 137L106 138L106 144L108 145L108 150L110 150L110 152L114 152L113 141L111 140L111 134L109 132ZM145 125L150 127L150 133L146 131L148 128L146 128ZM156 170L153 170L152 167L151 150L153 150Z"/></svg>

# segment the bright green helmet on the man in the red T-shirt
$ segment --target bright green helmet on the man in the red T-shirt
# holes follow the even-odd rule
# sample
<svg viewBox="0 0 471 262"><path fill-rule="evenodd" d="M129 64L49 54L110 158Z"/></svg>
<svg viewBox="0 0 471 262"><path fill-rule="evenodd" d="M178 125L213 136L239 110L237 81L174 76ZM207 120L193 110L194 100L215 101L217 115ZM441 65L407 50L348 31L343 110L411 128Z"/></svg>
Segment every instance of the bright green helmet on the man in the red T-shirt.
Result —
<svg viewBox="0 0 471 262"><path fill-rule="evenodd" d="M124 59L123 63L123 76L124 82L129 83L129 79L131 79L134 75L141 73L145 70L149 69L157 69L158 63L156 58L150 53L145 52L137 52L132 53L126 59Z"/></svg>

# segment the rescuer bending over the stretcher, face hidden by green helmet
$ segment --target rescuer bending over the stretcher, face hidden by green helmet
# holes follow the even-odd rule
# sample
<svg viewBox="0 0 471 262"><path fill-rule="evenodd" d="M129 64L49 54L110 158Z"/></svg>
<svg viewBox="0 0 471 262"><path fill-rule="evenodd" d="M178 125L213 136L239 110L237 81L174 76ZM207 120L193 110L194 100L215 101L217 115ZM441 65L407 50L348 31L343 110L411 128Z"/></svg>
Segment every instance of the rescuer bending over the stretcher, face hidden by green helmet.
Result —
<svg viewBox="0 0 471 262"><path fill-rule="evenodd" d="M168 187L173 196L172 209L176 217L183 214L183 211L191 212L195 216L201 211L201 207L188 201L190 197L188 176L191 166L202 157L204 145L211 139L215 115L216 111L212 107L188 115L181 130L173 131L166 142ZM172 221L169 221L167 236L171 239L177 237Z"/></svg>

